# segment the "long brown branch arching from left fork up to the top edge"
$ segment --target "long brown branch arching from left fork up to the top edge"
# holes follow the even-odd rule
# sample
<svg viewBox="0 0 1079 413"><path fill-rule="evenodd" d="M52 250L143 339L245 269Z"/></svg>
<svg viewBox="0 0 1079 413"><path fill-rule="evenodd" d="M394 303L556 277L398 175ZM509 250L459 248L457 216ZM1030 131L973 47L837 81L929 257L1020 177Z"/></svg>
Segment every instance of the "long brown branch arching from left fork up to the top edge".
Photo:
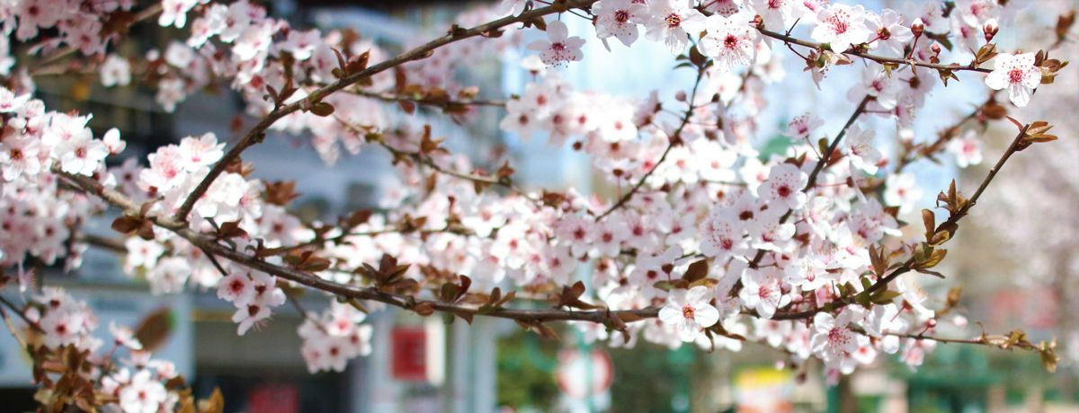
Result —
<svg viewBox="0 0 1079 413"><path fill-rule="evenodd" d="M533 9L531 11L521 13L520 15L517 16L503 17L496 20L492 20L473 27L470 29L451 30L448 35L441 38L432 40L423 45L414 47L408 52L401 53L393 58L383 60L378 65L367 67L364 70L354 73L349 73L333 83L330 83L326 86L315 90L303 99L300 99L292 104L283 105L272 110L270 113L265 115L265 118L259 121L259 123L256 124L255 127L248 130L247 134L244 135L244 137L241 138L240 141L237 141L236 144L232 147L232 149L230 149L229 152L224 154L224 156L221 157L221 160L219 160L216 164L214 164L214 167L210 168L206 177L199 182L195 189L191 191L191 194L188 195L187 199L183 201L183 204L180 205L180 208L174 216L173 221L185 222L187 220L188 215L191 214L191 209L194 208L195 202L197 202L199 198L202 197L202 195L206 193L207 190L209 190L209 185L214 183L214 180L216 180L217 177L224 171L224 169L229 166L229 164L236 161L240 157L240 154L244 152L244 150L260 142L265 137L264 135L265 130L269 129L270 126L274 124L274 122L277 122L277 120L301 110L308 110L315 104L322 101L322 99L325 98L326 96L329 96L330 94L341 91L356 82L359 82L360 80L368 79L371 75L381 73L383 71L386 71L388 69L392 69L394 67L400 66L402 64L412 60L421 60L427 58L436 49L441 47L446 44L481 36L483 33L494 32L509 25L522 22L531 22L536 18L542 18L543 16L548 14L560 13L568 9L588 6L595 3L596 1L597 0L569 0L557 6L552 5L552 6Z"/></svg>

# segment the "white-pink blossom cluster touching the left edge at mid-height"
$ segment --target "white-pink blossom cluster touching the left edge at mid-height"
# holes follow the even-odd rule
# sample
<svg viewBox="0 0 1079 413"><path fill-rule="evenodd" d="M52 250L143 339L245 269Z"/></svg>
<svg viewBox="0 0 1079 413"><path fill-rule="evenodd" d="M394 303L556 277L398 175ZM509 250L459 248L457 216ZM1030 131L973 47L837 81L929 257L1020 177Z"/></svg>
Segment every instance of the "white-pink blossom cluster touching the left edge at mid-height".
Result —
<svg viewBox="0 0 1079 413"><path fill-rule="evenodd" d="M100 139L86 126L90 115L46 111L29 94L0 87L0 264L17 265L26 289L25 257L46 264L67 257L78 265L81 247L69 245L70 228L86 222L100 202L58 190L60 171L105 179L105 157L123 150L117 129Z"/></svg>

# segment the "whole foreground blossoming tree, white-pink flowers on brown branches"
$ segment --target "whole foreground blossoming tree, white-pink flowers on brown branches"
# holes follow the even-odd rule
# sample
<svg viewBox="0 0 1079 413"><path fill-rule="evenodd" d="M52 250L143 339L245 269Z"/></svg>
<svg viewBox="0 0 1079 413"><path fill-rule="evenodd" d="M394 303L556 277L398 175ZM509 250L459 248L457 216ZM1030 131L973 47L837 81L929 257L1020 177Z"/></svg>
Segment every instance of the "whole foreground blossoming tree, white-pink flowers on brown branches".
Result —
<svg viewBox="0 0 1079 413"><path fill-rule="evenodd" d="M919 278L946 276L933 270L943 246L978 203L988 203L983 194L1006 163L1048 164L1060 152L1040 144L1055 139L1040 119L1064 114L1015 115L1023 121L1011 119L1014 138L986 160L993 167L980 184L953 182L933 205L920 204L907 175L932 167L919 160L947 153L978 163L985 124L1009 125L1010 106L1057 86L1067 63L1055 50L1070 25L1009 26L1027 10L1046 13L1019 0L899 10L812 0L505 0L463 11L442 35L394 54L363 37L291 27L246 0L5 1L0 259L3 285L21 298L3 299L5 325L35 361L46 411L220 409L218 397L196 403L172 363L141 350L138 331L109 326L112 343L94 339L99 326L88 307L31 271L30 263L59 262L73 271L87 247L121 251L125 272L153 293L215 289L235 305L238 334L257 334L252 328L272 322L300 291L325 295L328 308L306 312L298 330L297 352L312 372L340 371L369 354L365 315L386 306L509 318L544 336L554 335L551 322L579 321L573 326L619 346L753 343L780 349L794 369L820 360L830 380L882 354L916 367L939 342L1035 352L1053 369L1055 343L1032 342L1022 330L939 336L946 320L937 315L953 311L954 300L930 300ZM564 22L578 18L595 32L570 32ZM153 22L176 28L175 41L118 54L133 25ZM1009 30L1041 36L1002 50L994 39ZM537 31L531 42L521 36ZM678 56L673 70L694 81L650 96L573 90L559 72L589 58L582 45L597 41L659 42ZM452 75L510 49L531 54L523 65L533 78L520 96L489 96ZM762 156L755 116L769 105L764 91L782 77L782 58L804 60L806 73L793 75L806 82L842 80L845 90L824 83L819 93L848 96L851 109L836 130L821 127L829 113L792 119L794 143ZM204 87L230 88L250 122L231 140L186 137L107 167L123 156L119 130L95 136L92 113L45 108L35 97L35 82L85 72L106 86L151 88L166 111ZM926 102L947 101L944 86L958 80L1000 92L937 139L909 138ZM525 190L508 160L494 170L474 166L429 125L387 116L429 108L467 122L480 106L503 107L502 129L522 139L546 136L587 154L618 193ZM896 133L871 127L874 116ZM384 199L384 212L304 222L288 208L295 183L254 179L259 165L242 159L271 134L306 139L327 163L386 151L404 192ZM897 151L887 155L882 148L890 146ZM1068 204L1057 205L1067 216ZM897 219L923 208L920 223ZM115 238L83 231L105 211L121 215ZM593 270L591 288L577 279L582 266Z"/></svg>

